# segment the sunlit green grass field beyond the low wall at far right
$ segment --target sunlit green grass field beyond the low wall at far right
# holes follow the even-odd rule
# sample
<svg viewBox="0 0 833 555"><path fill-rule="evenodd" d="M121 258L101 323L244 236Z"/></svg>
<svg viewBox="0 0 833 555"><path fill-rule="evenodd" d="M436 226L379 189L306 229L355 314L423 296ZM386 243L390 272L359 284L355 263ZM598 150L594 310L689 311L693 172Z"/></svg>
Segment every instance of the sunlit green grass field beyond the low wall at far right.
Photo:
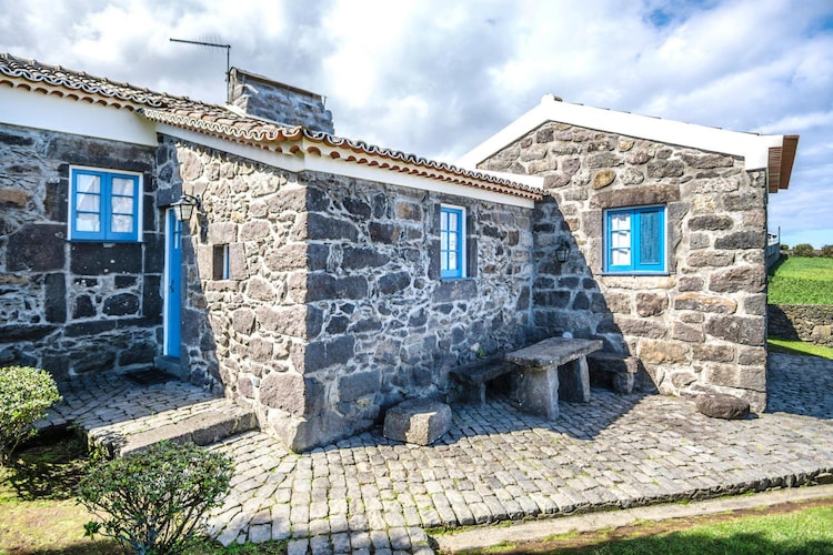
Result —
<svg viewBox="0 0 833 555"><path fill-rule="evenodd" d="M771 304L833 304L833 259L789 256L770 274Z"/></svg>

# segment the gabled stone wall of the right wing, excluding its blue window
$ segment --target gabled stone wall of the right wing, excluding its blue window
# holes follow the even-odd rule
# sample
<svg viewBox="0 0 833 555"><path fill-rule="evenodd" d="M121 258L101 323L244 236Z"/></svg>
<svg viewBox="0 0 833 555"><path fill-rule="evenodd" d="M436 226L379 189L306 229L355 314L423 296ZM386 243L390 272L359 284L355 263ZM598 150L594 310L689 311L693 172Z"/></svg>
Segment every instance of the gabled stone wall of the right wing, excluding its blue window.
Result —
<svg viewBox="0 0 833 555"><path fill-rule="evenodd" d="M544 176L534 325L639 356L662 393L766 404L763 171L712 152L546 123L482 168ZM664 204L668 275L603 275L605 209ZM555 262L566 241L570 260Z"/></svg>

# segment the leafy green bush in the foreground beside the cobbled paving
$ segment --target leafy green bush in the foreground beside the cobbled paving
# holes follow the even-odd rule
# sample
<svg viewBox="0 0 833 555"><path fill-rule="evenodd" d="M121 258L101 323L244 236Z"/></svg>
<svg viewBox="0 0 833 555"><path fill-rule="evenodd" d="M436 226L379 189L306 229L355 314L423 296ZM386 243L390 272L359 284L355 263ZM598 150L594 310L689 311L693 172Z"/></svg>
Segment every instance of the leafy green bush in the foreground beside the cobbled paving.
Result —
<svg viewBox="0 0 833 555"><path fill-rule="evenodd" d="M86 535L112 537L126 552L143 555L181 553L229 492L233 472L228 455L192 443L162 442L99 462L78 491L80 503L99 518L84 526Z"/></svg>

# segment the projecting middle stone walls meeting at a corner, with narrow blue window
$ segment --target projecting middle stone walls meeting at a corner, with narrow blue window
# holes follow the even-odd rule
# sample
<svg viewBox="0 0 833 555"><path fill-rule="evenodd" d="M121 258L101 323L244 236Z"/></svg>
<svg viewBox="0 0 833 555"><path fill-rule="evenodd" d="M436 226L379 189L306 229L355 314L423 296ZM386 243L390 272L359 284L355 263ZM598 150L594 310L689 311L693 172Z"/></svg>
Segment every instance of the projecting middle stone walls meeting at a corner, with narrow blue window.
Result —
<svg viewBox="0 0 833 555"><path fill-rule="evenodd" d="M188 310L208 322L189 332L189 362L215 357L225 394L292 448L363 430L403 398L444 397L450 367L526 343L531 210L188 144L175 158L205 212ZM439 278L442 202L469 211L465 280ZM211 278L219 245L230 280Z"/></svg>

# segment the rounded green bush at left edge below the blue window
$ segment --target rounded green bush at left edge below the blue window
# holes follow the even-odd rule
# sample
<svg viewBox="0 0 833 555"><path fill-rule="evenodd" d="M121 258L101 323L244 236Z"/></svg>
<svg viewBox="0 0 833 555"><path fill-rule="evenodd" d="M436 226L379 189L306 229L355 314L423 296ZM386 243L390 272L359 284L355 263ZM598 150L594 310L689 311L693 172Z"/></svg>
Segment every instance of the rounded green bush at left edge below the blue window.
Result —
<svg viewBox="0 0 833 555"><path fill-rule="evenodd" d="M0 369L0 464L6 464L20 444L37 433L32 424L61 395L46 370L31 366Z"/></svg>

